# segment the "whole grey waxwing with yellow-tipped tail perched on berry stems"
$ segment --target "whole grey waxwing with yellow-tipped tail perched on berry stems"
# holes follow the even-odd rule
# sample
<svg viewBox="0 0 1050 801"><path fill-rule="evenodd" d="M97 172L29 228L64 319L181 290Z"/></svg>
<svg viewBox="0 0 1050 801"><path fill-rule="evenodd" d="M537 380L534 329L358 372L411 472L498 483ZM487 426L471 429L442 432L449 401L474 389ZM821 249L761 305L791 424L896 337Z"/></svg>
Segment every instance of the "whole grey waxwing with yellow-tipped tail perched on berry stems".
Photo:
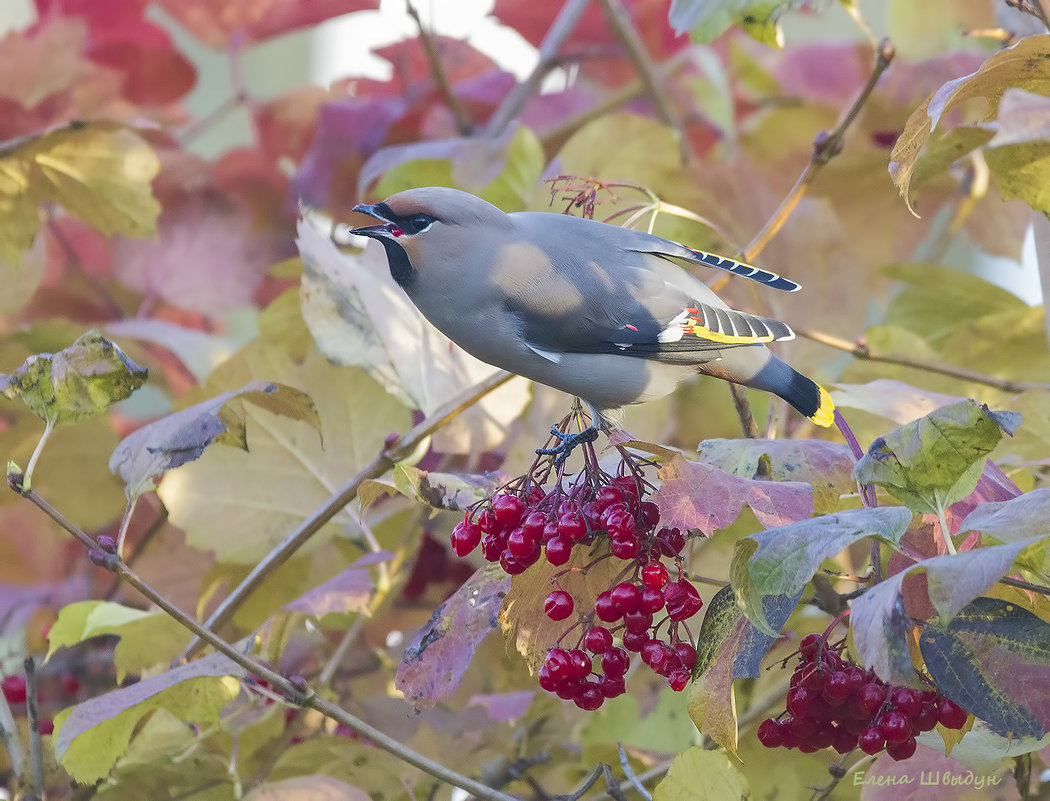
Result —
<svg viewBox="0 0 1050 801"><path fill-rule="evenodd" d="M583 400L591 426L560 457L615 427L622 406L671 393L695 373L778 395L817 425L834 404L766 342L782 322L730 309L679 264L775 289L799 284L658 236L550 212L506 214L467 192L424 187L359 205L380 225L391 275L423 316L482 361ZM558 434L558 431L554 431Z"/></svg>

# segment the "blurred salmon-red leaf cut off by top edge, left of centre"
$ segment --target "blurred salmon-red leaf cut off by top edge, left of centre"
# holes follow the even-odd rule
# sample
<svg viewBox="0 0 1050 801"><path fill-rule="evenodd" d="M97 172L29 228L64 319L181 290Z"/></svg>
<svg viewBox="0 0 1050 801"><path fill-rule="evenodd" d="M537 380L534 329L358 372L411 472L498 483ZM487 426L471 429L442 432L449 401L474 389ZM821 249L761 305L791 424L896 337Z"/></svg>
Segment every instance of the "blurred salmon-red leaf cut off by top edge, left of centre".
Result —
<svg viewBox="0 0 1050 801"><path fill-rule="evenodd" d="M161 0L193 36L218 49L315 25L332 17L378 8L379 0Z"/></svg>

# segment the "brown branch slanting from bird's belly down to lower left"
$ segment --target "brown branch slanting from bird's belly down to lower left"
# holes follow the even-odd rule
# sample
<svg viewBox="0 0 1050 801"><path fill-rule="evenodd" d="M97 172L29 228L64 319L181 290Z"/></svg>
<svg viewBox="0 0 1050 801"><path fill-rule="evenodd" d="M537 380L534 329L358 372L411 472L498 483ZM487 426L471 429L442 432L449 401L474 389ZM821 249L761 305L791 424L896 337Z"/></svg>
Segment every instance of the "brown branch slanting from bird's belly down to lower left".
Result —
<svg viewBox="0 0 1050 801"><path fill-rule="evenodd" d="M268 553L258 565L237 585L237 587L218 605L205 623L213 631L220 630L240 606L278 567L290 560L310 539L317 533L346 504L357 497L357 491L365 481L378 479L394 466L398 460L404 459L427 437L449 420L457 417L463 409L477 403L498 386L511 378L509 373L499 371L480 384L454 398L434 415L426 418L408 430L400 440L391 443L369 462L360 471L340 489L337 489L323 504L307 518L289 534L284 542ZM182 659L188 659L201 649L201 638L193 639L183 651Z"/></svg>

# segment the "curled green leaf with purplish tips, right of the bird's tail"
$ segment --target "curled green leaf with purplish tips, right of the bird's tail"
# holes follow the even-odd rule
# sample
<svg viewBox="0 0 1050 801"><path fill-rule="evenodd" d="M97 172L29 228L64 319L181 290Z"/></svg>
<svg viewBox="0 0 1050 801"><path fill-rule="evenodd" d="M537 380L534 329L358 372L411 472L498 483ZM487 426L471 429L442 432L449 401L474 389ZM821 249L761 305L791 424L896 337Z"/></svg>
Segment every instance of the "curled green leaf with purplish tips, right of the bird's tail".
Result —
<svg viewBox="0 0 1050 801"><path fill-rule="evenodd" d="M918 512L937 513L966 498L988 454L1021 424L1016 412L991 412L963 400L879 437L854 478L878 484Z"/></svg>

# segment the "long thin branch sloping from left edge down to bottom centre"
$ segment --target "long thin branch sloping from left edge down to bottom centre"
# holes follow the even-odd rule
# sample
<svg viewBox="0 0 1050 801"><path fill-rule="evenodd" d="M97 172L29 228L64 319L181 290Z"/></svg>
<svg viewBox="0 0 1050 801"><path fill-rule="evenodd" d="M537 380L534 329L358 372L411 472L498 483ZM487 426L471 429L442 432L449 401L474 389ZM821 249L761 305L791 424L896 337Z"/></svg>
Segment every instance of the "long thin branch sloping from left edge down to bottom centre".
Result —
<svg viewBox="0 0 1050 801"><path fill-rule="evenodd" d="M37 494L37 492L32 489L24 489L21 485L21 477L19 475L8 476L7 483L12 489L19 492L19 494L23 498L32 501L38 508L47 514L47 517L58 523L62 528L76 537L78 542L88 548L88 554L94 564L116 573L124 582L138 590L140 594L155 604L160 609L164 610L166 614L171 616L181 626L189 629L189 631L191 631L198 639L210 645L249 674L268 682L270 687L273 688L274 692L281 694L291 703L298 707L310 707L317 710L322 715L326 715L336 722L342 723L348 729L357 732L362 737L371 740L374 745L377 745L383 751L394 755L401 761L407 762L408 764L418 767L420 771L423 771L441 781L445 781L454 786L460 787L461 789L478 796L479 798L487 799L487 801L519 801L517 797L506 793L501 793L489 787L487 784L483 784L468 776L457 773L439 762L435 762L434 760L424 757L422 754L413 751L398 740L395 740L393 737L387 736L378 729L374 729L371 724L355 717L354 715L351 715L349 712L337 707L328 699L315 694L301 677L294 677L292 679L286 678L281 674L271 670L264 662L252 658L246 653L243 653L239 649L209 631L194 618L190 617L174 606L164 595L147 584L119 555L116 553L104 553L96 548L94 541L87 533L66 520L66 518L59 512L58 509Z"/></svg>

